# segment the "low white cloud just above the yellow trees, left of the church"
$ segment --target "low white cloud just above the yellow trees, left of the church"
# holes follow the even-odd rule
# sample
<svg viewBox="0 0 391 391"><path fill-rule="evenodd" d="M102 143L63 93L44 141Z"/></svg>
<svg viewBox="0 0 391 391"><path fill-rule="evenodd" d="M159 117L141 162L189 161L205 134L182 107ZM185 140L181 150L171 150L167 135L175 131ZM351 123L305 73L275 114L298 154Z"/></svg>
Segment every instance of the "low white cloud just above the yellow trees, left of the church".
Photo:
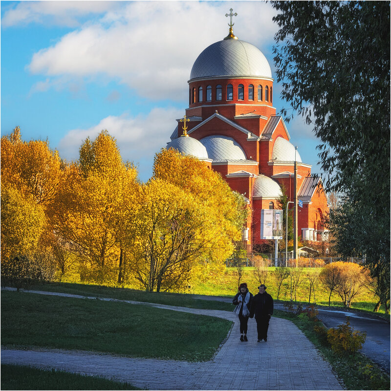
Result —
<svg viewBox="0 0 391 391"><path fill-rule="evenodd" d="M89 137L94 140L104 129L117 140L117 146L124 161L139 163L140 177L147 180L145 173L152 173L153 156L170 141L176 127L176 118L183 110L174 108L154 108L147 115L130 117L123 114L119 117L108 116L99 124L88 129L73 129L61 139L58 151L67 160L77 160L79 148Z"/></svg>

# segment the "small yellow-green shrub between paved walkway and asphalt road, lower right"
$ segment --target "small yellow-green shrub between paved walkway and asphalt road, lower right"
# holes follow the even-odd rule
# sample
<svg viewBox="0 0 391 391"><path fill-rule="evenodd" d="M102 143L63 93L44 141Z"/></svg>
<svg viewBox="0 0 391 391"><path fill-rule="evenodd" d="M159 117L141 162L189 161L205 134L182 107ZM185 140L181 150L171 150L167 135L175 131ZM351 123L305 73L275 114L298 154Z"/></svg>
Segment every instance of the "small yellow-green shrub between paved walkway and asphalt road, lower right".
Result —
<svg viewBox="0 0 391 391"><path fill-rule="evenodd" d="M327 331L327 341L330 343L331 349L340 356L356 353L362 348L366 337L365 331L353 331L348 319L346 323Z"/></svg>

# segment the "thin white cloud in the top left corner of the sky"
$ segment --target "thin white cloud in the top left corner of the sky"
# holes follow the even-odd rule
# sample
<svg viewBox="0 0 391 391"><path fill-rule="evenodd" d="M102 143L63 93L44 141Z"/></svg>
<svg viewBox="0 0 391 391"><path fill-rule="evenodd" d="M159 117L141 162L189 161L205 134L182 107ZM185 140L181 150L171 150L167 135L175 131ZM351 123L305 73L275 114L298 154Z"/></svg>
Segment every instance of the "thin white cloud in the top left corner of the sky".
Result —
<svg viewBox="0 0 391 391"><path fill-rule="evenodd" d="M80 25L80 18L107 12L118 5L117 1L21 1L4 12L1 26L38 23L75 27Z"/></svg>

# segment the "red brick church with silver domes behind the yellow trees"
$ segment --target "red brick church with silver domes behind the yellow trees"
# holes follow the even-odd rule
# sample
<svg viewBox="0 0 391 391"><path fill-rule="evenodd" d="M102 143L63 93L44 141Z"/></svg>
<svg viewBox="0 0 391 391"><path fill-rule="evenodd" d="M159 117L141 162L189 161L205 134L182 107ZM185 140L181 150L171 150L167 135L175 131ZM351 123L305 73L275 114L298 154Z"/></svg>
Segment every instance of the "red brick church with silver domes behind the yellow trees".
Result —
<svg viewBox="0 0 391 391"><path fill-rule="evenodd" d="M261 243L261 209L278 209L282 184L293 201L296 159L298 199L303 201L298 238L326 240L328 201L322 180L311 175L311 165L302 162L282 117L276 115L266 57L235 37L232 21L229 25L229 35L195 60L188 81L187 136L183 119L177 119L167 148L204 161L247 198L251 213L243 239L248 247Z"/></svg>

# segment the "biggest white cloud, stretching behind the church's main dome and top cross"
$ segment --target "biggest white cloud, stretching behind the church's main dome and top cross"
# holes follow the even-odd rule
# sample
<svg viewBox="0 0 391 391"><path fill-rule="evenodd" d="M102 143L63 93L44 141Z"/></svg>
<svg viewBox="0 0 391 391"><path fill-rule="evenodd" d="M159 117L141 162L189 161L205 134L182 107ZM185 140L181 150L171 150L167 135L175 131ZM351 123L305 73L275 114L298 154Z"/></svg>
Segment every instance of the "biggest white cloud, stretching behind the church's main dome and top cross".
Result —
<svg viewBox="0 0 391 391"><path fill-rule="evenodd" d="M94 2L91 2L94 3ZM152 100L187 100L187 80L198 54L234 32L260 48L270 45L277 26L263 2L131 1L88 22L33 55L28 69L57 78L106 75Z"/></svg>

